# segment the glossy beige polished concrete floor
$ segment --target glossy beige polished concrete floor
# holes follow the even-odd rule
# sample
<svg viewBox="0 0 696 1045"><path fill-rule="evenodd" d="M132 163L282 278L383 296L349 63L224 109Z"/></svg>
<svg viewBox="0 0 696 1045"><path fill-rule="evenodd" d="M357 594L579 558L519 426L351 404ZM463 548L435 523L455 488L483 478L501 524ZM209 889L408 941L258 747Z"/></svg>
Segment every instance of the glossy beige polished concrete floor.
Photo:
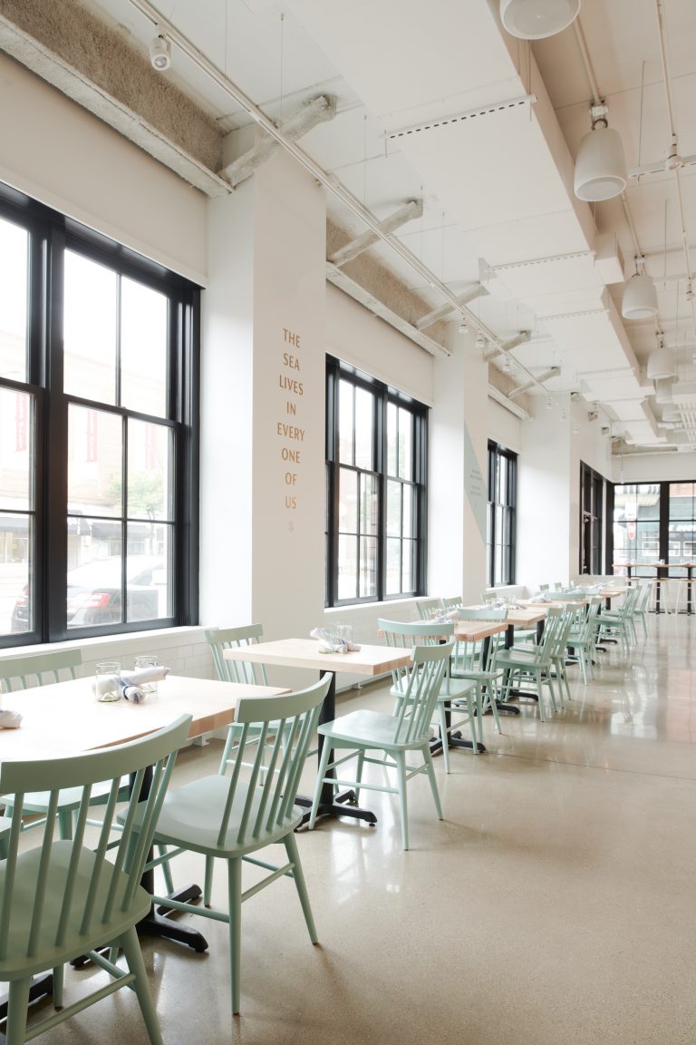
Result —
<svg viewBox="0 0 696 1045"><path fill-rule="evenodd" d="M165 1042L691 1045L695 621L651 616L648 640L627 660L600 654L586 688L570 669L573 700L545 723L527 702L503 736L487 717L487 753L453 751L449 776L436 759L443 821L425 777L412 782L408 853L395 800L377 792L363 796L376 828L302 832L320 946L289 881L249 900L239 1017L224 926L192 920L205 954L145 942ZM353 705L388 705L385 688L341 711ZM183 752L179 779L218 756L217 743ZM174 865L186 880L197 867ZM68 989L101 975L71 971ZM130 992L47 1040L98 1039L146 1042Z"/></svg>

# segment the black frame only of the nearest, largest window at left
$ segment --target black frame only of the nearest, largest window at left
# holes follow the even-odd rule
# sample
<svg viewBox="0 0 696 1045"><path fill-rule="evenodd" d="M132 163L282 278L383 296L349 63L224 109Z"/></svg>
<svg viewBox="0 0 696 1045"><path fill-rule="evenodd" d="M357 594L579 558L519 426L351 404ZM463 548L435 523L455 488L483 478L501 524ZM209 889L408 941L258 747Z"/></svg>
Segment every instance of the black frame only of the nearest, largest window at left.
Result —
<svg viewBox="0 0 696 1045"><path fill-rule="evenodd" d="M0 648L96 637L198 623L200 288L131 249L0 183L0 217L29 233L27 380L0 386L35 399L33 511L35 558L30 577L31 630L0 635ZM64 256L70 250L169 300L170 345L166 418L173 432L173 547L170 617L89 627L67 626L68 405L149 420L121 405L66 395L63 390ZM50 511L48 510L50 506ZM126 545L123 543L125 589Z"/></svg>

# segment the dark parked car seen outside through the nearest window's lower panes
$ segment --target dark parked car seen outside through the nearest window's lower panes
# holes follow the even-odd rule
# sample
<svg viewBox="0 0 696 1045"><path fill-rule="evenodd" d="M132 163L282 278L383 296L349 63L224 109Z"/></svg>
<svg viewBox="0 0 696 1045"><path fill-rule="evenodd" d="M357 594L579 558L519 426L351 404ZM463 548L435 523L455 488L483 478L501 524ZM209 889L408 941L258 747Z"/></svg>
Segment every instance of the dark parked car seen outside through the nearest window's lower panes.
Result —
<svg viewBox="0 0 696 1045"><path fill-rule="evenodd" d="M159 616L155 575L164 567L161 557L130 555L126 563L126 619L151 621ZM68 571L67 621L69 628L118 624L123 620L121 558L95 559ZM28 631L30 606L25 586L10 618L13 632Z"/></svg>

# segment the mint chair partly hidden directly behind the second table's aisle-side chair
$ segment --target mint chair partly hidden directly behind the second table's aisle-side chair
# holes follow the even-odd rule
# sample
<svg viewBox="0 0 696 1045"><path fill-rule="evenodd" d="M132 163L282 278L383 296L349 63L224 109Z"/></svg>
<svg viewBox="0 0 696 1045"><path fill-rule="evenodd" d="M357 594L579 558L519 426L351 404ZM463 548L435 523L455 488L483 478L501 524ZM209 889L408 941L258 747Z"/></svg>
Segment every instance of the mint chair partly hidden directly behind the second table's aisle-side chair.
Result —
<svg viewBox="0 0 696 1045"><path fill-rule="evenodd" d="M437 646L441 640L454 637L454 624L437 624L432 622L384 621L377 622L378 630L384 634L387 646L394 649L411 650L413 646ZM456 646L454 649L456 650ZM391 672L390 694L395 699L394 715L399 714L410 681L408 668L395 668ZM477 716L480 724L482 717L481 690L475 679L453 678L448 666L440 691L435 702L440 740L442 742L442 761L445 772L450 772L450 744L452 734L458 734L462 725L469 725L472 736L472 749L479 752L477 738Z"/></svg>

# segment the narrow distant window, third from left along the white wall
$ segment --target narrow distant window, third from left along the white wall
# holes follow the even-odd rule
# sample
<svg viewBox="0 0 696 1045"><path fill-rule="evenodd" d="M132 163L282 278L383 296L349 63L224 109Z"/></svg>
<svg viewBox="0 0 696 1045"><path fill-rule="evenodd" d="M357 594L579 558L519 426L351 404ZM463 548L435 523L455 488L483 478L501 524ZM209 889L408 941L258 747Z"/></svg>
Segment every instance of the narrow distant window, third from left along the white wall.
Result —
<svg viewBox="0 0 696 1045"><path fill-rule="evenodd" d="M488 442L486 577L488 587L514 584L518 455Z"/></svg>

